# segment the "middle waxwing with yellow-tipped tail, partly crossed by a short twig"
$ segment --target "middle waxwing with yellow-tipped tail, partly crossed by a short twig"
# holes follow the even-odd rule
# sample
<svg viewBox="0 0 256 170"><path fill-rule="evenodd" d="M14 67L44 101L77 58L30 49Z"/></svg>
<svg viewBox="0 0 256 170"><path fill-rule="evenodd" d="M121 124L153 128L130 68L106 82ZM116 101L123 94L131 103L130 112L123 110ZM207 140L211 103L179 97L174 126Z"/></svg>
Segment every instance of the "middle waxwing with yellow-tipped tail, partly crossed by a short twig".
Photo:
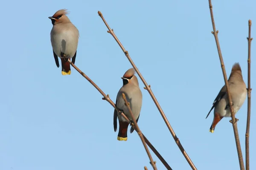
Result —
<svg viewBox="0 0 256 170"><path fill-rule="evenodd" d="M134 75L135 71L133 68L130 68L125 72L121 79L123 80L123 86L120 88L117 96L116 96L116 107L122 111L128 119L132 120L130 112L128 108L125 106L125 101L122 97L122 93L125 94L126 99L130 102L131 111L138 122L140 117L140 109L142 105L142 93L140 91L139 82L137 77ZM127 129L129 122L123 118L120 113L116 110L114 111L114 130L117 130L117 117L119 120L119 132L117 136L117 140L126 141L127 140ZM134 131L134 128L131 127L130 133Z"/></svg>

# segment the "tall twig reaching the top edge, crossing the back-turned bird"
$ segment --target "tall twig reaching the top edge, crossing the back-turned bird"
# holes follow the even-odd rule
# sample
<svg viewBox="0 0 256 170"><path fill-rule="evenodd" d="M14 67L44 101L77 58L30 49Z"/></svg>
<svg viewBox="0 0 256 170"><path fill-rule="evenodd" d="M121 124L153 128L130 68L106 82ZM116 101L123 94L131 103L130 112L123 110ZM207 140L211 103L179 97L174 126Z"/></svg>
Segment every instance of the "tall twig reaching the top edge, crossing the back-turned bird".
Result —
<svg viewBox="0 0 256 170"><path fill-rule="evenodd" d="M240 165L240 169L244 170L243 155L242 155L241 145L240 145L240 141L239 141L239 134L238 134L238 130L237 130L237 120L236 120L236 117L235 117L235 114L234 114L233 103L232 103L232 99L231 99L231 95L230 95L230 89L229 89L229 85L228 85L228 82L227 82L227 74L226 74L225 65L224 65L224 61L223 61L223 58L222 58L222 54L221 54L220 44L219 44L219 41L218 41L218 30L216 31L216 28L215 28L211 0L209 0L209 8L210 8L211 19L212 19L212 28L213 28L212 34L215 37L215 41L216 41L216 45L217 45L217 49L218 49L218 55L219 55L220 62L221 62L222 73L223 73L223 77L224 77L224 81L225 81L225 85L226 85L227 96L228 96L229 105L230 105L232 125L233 125L233 130L234 130L235 139L236 139L237 153L238 153L238 157L239 157L239 165Z"/></svg>

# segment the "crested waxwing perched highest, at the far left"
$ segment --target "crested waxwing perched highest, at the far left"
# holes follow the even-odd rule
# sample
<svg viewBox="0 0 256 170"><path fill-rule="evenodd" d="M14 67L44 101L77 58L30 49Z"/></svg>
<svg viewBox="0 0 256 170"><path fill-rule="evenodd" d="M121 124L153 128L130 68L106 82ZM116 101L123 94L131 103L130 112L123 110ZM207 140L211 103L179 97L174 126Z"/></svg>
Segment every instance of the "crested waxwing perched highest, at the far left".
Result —
<svg viewBox="0 0 256 170"><path fill-rule="evenodd" d="M57 67L59 67L58 57L61 58L61 74L70 75L70 64L68 59L72 58L72 62L76 61L76 50L79 39L79 31L69 18L66 9L58 10L49 19L52 20L51 42L53 57Z"/></svg>

